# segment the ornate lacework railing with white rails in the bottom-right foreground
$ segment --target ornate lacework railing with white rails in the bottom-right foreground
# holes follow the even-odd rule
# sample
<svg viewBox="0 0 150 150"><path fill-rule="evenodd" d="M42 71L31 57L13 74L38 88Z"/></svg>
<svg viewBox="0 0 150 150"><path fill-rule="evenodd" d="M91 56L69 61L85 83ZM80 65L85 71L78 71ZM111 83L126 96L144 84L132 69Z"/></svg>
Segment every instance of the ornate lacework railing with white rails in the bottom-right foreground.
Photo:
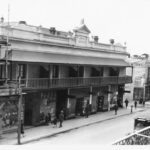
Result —
<svg viewBox="0 0 150 150"><path fill-rule="evenodd" d="M150 126L118 140L113 145L150 145Z"/></svg>

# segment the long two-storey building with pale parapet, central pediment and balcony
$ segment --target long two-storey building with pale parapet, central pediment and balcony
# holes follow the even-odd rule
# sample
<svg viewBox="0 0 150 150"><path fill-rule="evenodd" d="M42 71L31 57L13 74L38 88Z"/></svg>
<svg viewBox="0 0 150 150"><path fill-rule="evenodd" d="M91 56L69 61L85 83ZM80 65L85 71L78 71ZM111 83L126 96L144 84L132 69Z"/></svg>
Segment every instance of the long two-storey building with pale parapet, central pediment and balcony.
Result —
<svg viewBox="0 0 150 150"><path fill-rule="evenodd" d="M1 41L8 35L9 48L1 45L0 49L1 86L7 52L8 86L15 87L20 76L25 93L25 125L38 125L47 113L53 118L61 110L66 119L84 115L87 103L91 113L110 110L116 97L122 106L124 86L132 82L132 76L126 75L126 47L99 43L97 36L90 40L84 23L73 32L63 32L24 21L9 27L3 22Z"/></svg>

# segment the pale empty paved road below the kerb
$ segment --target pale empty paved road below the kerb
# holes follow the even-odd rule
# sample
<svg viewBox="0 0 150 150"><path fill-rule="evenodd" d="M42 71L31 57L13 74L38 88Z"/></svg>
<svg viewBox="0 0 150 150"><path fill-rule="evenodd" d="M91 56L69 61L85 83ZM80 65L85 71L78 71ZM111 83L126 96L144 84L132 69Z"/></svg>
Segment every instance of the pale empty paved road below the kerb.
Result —
<svg viewBox="0 0 150 150"><path fill-rule="evenodd" d="M43 139L30 144L44 145L82 145L111 144L133 131L133 121L136 116L150 113L150 110L128 116L115 118L94 125L82 127L67 133L59 134L49 139Z"/></svg>

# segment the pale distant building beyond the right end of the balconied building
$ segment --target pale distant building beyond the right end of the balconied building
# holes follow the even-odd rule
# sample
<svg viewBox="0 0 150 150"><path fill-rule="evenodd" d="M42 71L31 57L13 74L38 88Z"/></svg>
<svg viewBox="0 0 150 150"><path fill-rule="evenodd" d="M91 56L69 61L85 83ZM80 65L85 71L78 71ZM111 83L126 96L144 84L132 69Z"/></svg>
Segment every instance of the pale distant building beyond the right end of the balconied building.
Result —
<svg viewBox="0 0 150 150"><path fill-rule="evenodd" d="M147 97L148 87L147 87L147 79L148 79L148 58L132 56L127 60L132 66L127 69L127 74L132 74L133 82L125 85L125 89L130 91L130 93L125 94L125 97L130 100L140 100L146 96L146 99L150 99L150 96ZM144 94L145 93L145 94Z"/></svg>

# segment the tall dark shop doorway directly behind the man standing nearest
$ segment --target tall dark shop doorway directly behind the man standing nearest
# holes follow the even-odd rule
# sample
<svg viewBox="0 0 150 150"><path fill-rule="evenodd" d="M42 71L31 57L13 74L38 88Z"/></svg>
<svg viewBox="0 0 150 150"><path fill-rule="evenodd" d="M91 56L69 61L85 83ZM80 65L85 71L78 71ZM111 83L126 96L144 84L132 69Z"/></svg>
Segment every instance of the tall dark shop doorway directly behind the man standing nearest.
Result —
<svg viewBox="0 0 150 150"><path fill-rule="evenodd" d="M60 112L63 110L64 117L66 118L66 109L67 109L67 90L58 90L56 100L56 117L58 118Z"/></svg>

